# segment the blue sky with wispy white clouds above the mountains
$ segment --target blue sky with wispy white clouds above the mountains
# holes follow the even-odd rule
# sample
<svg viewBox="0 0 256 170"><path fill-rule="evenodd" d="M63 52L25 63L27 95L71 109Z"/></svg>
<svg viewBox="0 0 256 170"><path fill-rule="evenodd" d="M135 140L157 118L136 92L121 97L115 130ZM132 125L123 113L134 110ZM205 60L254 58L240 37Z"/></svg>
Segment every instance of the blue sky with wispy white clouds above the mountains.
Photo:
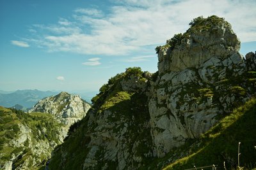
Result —
<svg viewBox="0 0 256 170"><path fill-rule="evenodd" d="M156 46L193 18L225 18L256 50L256 1L0 0L0 90L98 91L127 67L157 71Z"/></svg>

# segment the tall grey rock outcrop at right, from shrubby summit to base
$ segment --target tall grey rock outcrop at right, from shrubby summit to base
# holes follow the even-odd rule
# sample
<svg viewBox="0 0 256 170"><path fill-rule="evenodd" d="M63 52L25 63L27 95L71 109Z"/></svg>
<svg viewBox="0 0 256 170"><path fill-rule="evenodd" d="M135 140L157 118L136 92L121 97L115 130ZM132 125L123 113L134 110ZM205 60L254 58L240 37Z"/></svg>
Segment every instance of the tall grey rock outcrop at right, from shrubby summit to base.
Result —
<svg viewBox="0 0 256 170"><path fill-rule="evenodd" d="M191 30L179 44L157 52L159 74L151 81L148 106L158 157L198 138L254 93L243 76L255 71L255 55L243 59L230 24L222 20L208 30Z"/></svg>

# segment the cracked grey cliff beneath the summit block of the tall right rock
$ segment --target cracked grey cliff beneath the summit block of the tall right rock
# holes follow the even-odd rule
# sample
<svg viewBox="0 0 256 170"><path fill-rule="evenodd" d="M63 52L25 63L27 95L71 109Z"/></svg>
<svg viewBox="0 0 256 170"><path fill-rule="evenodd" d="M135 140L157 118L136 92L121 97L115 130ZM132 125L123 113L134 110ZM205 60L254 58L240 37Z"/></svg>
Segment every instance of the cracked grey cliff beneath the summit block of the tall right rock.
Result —
<svg viewBox="0 0 256 170"><path fill-rule="evenodd" d="M212 57L198 69L170 71L151 81L148 106L156 155L198 138L230 113L234 103L246 101L254 93L252 84L243 82L249 63L254 67L255 58L244 61L239 53Z"/></svg>

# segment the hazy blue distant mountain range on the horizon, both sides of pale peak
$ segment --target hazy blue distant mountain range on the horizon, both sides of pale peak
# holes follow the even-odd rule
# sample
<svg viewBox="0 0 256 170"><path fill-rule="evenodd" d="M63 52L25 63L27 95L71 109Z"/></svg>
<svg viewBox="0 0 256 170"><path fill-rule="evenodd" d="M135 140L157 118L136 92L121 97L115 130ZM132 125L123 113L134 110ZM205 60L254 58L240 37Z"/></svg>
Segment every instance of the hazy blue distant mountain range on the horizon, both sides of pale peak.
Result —
<svg viewBox="0 0 256 170"><path fill-rule="evenodd" d="M60 93L60 91L40 91L40 90L17 90L15 92L7 92L4 90L0 90L0 106L4 106L6 108L10 108L13 106L18 106L18 109L22 106L22 110L26 110L26 108L32 108L38 101L44 99L45 97L54 96ZM81 96L86 102L90 103L91 99L97 92L70 92L70 94L78 94Z"/></svg>

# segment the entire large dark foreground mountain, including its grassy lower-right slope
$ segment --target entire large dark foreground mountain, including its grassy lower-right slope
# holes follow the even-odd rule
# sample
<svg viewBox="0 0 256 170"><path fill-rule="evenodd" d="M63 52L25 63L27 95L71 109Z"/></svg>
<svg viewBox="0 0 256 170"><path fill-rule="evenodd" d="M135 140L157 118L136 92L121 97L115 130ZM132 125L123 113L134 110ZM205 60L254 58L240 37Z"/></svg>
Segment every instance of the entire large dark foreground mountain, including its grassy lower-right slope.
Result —
<svg viewBox="0 0 256 170"><path fill-rule="evenodd" d="M100 88L92 109L52 152L50 169L224 169L224 161L231 169L241 140L241 165L255 167L248 148L256 145L255 53L243 58L223 18L189 25L157 46L156 73L128 68Z"/></svg>

